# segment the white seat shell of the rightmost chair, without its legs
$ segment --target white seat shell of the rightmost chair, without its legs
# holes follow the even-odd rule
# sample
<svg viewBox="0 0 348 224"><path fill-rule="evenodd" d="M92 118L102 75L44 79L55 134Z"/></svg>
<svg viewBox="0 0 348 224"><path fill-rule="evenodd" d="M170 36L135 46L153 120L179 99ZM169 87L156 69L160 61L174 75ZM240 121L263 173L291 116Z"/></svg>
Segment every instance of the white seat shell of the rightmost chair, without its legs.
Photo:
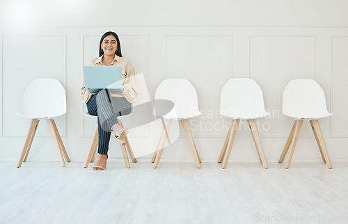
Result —
<svg viewBox="0 0 348 224"><path fill-rule="evenodd" d="M326 109L324 90L313 79L294 79L283 93L283 114L292 118L324 118L332 115Z"/></svg>

